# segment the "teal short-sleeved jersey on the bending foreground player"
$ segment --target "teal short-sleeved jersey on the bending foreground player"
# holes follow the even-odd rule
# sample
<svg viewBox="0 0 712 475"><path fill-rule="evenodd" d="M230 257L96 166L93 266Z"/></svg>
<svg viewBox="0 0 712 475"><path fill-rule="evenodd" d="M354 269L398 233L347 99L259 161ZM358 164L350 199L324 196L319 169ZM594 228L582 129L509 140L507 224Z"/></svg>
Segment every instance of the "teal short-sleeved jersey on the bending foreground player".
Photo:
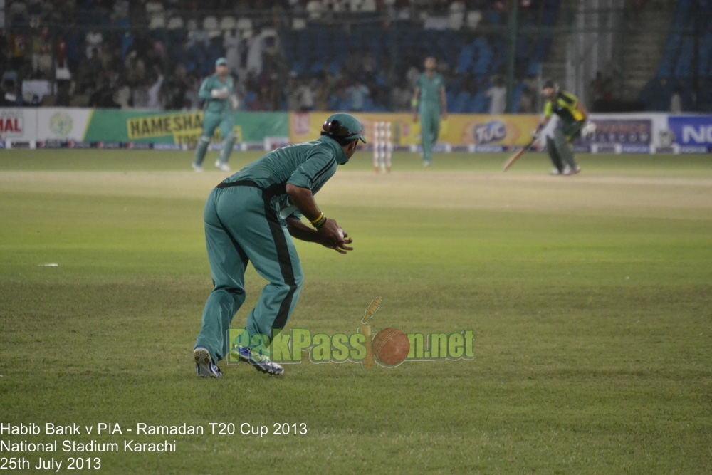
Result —
<svg viewBox="0 0 712 475"><path fill-rule="evenodd" d="M288 145L273 150L224 180L224 184L253 182L273 194L272 204L282 219L300 218L285 191L287 184L308 188L316 194L333 177L338 165L349 159L335 140L319 137L313 142Z"/></svg>

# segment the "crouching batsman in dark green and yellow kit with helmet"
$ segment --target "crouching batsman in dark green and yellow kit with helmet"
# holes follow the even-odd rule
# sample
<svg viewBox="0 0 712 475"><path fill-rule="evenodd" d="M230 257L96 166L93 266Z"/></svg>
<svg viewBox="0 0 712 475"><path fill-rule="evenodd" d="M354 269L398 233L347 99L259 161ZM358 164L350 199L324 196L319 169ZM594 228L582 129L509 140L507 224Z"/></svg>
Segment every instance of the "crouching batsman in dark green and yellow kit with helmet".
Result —
<svg viewBox="0 0 712 475"><path fill-rule="evenodd" d="M575 95L559 90L559 85L554 80L544 81L542 95L546 98L544 118L535 132L535 137L546 127L553 114L561 120L561 127L554 130L553 137L546 138L546 150L554 164L551 174L577 174L581 169L574 160L571 142L582 133L590 132L593 127L592 124L587 125L588 111Z"/></svg>

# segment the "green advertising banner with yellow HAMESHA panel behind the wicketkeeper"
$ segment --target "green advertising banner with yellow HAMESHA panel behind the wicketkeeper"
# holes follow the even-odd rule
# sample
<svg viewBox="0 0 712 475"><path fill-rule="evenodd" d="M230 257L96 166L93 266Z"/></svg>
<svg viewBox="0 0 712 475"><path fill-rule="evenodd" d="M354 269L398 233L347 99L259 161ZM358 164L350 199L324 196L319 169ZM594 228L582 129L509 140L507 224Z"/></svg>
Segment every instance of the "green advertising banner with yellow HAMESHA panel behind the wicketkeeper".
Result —
<svg viewBox="0 0 712 475"><path fill-rule="evenodd" d="M262 143L289 137L289 114L233 113L238 143ZM84 142L166 143L193 147L203 131L202 111L129 111L95 109ZM215 131L214 140L221 140Z"/></svg>

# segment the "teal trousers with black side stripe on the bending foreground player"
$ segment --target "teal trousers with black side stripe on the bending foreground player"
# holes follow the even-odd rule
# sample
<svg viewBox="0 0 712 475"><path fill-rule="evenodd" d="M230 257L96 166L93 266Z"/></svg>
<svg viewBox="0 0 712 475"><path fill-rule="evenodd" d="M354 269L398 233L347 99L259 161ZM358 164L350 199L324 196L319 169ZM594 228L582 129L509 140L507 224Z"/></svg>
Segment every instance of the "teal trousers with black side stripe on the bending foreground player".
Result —
<svg viewBox="0 0 712 475"><path fill-rule="evenodd" d="M205 204L205 242L214 288L195 342L207 348L215 362L229 352L227 333L245 301L248 261L268 281L244 326L251 337L284 328L303 282L292 237L271 207L274 191L251 182L226 185L218 185Z"/></svg>

